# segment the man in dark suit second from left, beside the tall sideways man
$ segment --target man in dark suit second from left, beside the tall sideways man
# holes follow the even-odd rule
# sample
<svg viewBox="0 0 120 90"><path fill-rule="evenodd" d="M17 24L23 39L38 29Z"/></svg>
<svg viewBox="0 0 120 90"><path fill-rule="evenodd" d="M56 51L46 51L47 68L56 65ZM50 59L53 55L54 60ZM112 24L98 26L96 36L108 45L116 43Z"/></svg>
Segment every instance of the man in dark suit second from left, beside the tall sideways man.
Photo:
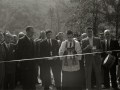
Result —
<svg viewBox="0 0 120 90"><path fill-rule="evenodd" d="M5 33L5 42L3 46L5 48L6 58L5 61L15 60L15 45L11 43L11 34ZM15 88L15 71L16 62L5 63L5 90L13 90Z"/></svg>

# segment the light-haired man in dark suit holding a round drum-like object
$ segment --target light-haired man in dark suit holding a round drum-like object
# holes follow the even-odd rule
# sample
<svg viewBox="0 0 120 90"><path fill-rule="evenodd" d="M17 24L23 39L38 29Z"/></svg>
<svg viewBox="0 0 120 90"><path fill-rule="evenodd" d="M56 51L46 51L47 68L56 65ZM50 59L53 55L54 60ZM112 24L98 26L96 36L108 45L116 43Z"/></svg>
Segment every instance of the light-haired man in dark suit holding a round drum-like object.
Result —
<svg viewBox="0 0 120 90"><path fill-rule="evenodd" d="M118 88L117 88L117 79L116 79L116 65L118 64L118 57L117 57L117 52L112 50L118 50L119 44L117 40L111 39L110 30L105 30L104 36L105 39L104 41L102 41L102 46L103 46L103 50L106 52L102 54L103 59L105 59L108 54L111 54L116 57L115 63L110 69L102 65L104 71L104 86L105 88L110 88L110 77L109 77L109 72L110 72L112 88L117 90Z"/></svg>

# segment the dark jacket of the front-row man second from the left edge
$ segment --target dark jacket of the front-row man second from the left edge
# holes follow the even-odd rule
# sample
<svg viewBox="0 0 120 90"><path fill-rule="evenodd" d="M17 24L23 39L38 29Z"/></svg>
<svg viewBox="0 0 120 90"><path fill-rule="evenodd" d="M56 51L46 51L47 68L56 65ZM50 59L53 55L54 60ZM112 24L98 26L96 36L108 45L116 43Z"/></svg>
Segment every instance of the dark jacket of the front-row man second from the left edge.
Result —
<svg viewBox="0 0 120 90"><path fill-rule="evenodd" d="M5 48L6 58L5 61L15 60L15 44L10 43L9 49L7 48L6 44L3 43ZM6 62L5 63L5 73L15 73L16 71L16 62Z"/></svg>

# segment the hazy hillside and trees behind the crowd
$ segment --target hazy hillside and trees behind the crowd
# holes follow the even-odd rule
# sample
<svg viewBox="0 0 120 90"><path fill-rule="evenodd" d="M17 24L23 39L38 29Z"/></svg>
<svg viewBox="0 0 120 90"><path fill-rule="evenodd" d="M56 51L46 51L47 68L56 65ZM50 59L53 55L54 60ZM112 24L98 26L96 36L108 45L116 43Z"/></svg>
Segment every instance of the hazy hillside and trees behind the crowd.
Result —
<svg viewBox="0 0 120 90"><path fill-rule="evenodd" d="M79 36L92 26L95 35L110 29L117 37L120 0L0 0L0 30L18 34L28 25L36 36L46 29L52 29L54 36L71 29Z"/></svg>

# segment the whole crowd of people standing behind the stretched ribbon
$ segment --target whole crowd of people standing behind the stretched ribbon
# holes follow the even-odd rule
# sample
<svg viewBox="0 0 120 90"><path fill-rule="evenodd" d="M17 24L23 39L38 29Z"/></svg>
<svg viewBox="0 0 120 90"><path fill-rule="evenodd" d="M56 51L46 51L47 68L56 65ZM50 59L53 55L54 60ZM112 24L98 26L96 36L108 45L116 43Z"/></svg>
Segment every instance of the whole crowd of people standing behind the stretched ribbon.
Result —
<svg viewBox="0 0 120 90"><path fill-rule="evenodd" d="M18 84L36 90L38 78L49 90L51 71L57 90L120 90L120 42L110 30L95 37L88 27L79 40L72 30L59 32L55 39L50 29L36 39L34 33L32 26L18 36L0 32L0 90L14 90Z"/></svg>

